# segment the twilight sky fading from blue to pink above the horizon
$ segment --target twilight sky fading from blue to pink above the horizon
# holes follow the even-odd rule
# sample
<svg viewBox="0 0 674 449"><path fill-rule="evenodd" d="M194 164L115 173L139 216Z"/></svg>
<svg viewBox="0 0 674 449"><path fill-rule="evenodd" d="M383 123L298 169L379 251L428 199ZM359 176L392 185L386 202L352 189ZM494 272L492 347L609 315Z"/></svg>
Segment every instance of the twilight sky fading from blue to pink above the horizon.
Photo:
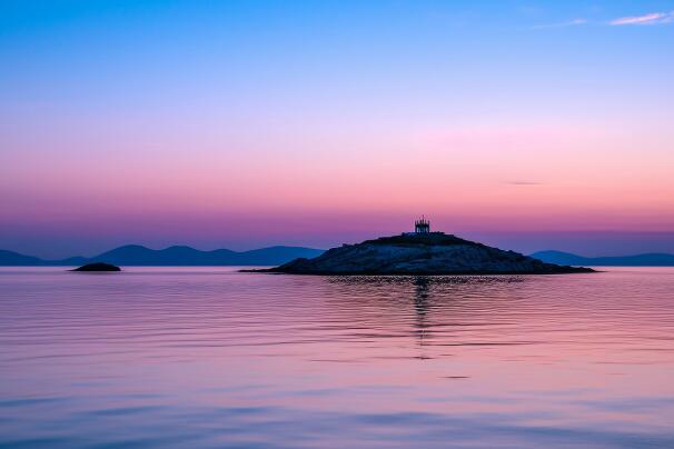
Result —
<svg viewBox="0 0 674 449"><path fill-rule="evenodd" d="M673 1L0 1L0 248L674 252Z"/></svg>

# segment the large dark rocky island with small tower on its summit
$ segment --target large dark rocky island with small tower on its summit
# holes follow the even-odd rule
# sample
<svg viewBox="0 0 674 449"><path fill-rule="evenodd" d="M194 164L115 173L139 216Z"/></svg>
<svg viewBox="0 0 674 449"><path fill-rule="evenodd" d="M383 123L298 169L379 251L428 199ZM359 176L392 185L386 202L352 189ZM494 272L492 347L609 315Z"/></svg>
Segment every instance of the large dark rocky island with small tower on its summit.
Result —
<svg viewBox="0 0 674 449"><path fill-rule="evenodd" d="M430 232L428 220L414 232L343 245L313 259L251 270L293 275L558 275L593 272L591 268L546 263L538 259Z"/></svg>

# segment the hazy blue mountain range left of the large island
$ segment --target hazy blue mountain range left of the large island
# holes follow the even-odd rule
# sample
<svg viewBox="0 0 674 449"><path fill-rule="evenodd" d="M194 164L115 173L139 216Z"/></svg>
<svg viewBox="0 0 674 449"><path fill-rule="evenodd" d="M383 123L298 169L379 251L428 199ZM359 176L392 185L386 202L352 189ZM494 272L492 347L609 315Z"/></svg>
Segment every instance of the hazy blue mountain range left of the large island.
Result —
<svg viewBox="0 0 674 449"><path fill-rule="evenodd" d="M117 266L276 266L300 257L317 257L323 252L320 249L304 247L270 247L239 252L228 249L200 251L177 246L155 250L140 245L127 245L92 258L72 257L62 260L43 260L0 250L0 266L80 266L92 262Z"/></svg>

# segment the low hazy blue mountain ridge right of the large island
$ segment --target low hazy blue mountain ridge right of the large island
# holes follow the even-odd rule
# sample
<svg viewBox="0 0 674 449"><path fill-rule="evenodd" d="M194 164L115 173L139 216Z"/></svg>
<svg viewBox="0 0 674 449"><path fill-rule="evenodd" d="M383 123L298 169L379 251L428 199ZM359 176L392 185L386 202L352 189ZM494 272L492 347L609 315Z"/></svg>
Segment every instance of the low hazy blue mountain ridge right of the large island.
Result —
<svg viewBox="0 0 674 449"><path fill-rule="evenodd" d="M533 258L548 263L594 267L674 267L674 255L652 252L635 256L583 257L571 252L539 251Z"/></svg>

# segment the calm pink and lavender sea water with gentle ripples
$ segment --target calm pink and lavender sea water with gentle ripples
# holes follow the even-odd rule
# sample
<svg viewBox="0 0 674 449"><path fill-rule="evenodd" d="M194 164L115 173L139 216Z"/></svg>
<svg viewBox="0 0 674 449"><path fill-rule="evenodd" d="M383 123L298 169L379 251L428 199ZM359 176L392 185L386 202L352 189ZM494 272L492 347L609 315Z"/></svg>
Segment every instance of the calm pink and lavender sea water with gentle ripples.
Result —
<svg viewBox="0 0 674 449"><path fill-rule="evenodd" d="M0 270L0 446L674 447L674 269Z"/></svg>

